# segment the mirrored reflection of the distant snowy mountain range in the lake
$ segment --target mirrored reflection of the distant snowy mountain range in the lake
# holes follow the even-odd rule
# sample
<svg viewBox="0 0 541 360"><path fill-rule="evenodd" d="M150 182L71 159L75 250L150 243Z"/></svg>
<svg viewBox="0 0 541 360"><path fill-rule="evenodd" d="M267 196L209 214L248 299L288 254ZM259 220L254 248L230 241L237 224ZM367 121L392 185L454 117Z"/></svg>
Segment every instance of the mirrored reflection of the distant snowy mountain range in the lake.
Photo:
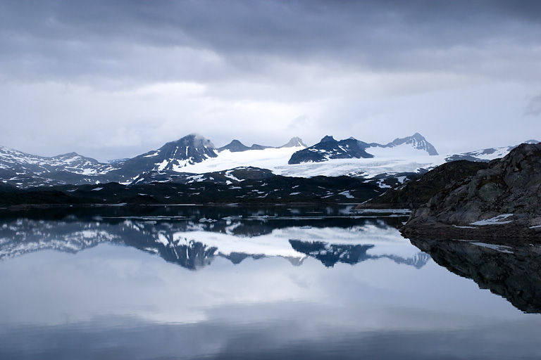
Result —
<svg viewBox="0 0 541 360"><path fill-rule="evenodd" d="M385 257L416 268L430 259L390 225L396 217L284 208L161 209L145 215L116 211L64 214L61 219L4 219L0 259L40 250L75 253L105 242L156 254L186 269L208 266L216 257L233 264L247 258L283 257L296 266L306 257L325 266Z"/></svg>

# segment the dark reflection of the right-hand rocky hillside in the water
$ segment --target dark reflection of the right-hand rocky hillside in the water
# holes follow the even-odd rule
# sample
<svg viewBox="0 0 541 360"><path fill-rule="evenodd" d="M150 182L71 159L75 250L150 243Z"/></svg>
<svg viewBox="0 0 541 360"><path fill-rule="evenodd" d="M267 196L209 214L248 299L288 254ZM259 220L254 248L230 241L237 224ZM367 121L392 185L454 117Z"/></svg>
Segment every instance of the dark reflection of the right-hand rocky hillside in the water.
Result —
<svg viewBox="0 0 541 360"><path fill-rule="evenodd" d="M504 297L517 309L541 313L539 245L421 238L412 238L411 243L427 252L437 264L454 274L471 278L479 288Z"/></svg>

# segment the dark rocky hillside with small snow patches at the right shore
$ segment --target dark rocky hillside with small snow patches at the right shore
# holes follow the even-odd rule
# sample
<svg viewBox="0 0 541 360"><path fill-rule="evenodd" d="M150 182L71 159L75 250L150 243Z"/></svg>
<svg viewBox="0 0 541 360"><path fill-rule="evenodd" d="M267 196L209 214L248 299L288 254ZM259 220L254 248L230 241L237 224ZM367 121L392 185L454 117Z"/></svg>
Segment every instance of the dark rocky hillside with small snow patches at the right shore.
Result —
<svg viewBox="0 0 541 360"><path fill-rule="evenodd" d="M480 236L541 238L541 143L522 144L453 181L411 214L404 231L440 225Z"/></svg>

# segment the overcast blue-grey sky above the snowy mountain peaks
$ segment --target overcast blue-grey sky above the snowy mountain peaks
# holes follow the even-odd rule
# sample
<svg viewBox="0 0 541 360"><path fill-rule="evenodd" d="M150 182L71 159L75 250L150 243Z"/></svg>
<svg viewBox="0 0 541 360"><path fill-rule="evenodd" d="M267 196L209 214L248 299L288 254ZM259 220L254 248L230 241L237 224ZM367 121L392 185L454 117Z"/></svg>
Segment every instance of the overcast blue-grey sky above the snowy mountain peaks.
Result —
<svg viewBox="0 0 541 360"><path fill-rule="evenodd" d="M0 0L0 145L541 140L541 1Z"/></svg>

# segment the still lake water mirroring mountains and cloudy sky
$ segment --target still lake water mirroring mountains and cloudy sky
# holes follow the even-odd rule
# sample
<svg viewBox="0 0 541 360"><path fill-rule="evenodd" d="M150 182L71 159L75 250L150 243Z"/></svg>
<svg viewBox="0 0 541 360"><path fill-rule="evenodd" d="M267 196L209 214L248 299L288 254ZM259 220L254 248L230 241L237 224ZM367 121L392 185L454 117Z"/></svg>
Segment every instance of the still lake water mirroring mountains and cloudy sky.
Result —
<svg viewBox="0 0 541 360"><path fill-rule="evenodd" d="M3 213L0 359L540 359L540 248L414 246L406 219Z"/></svg>

